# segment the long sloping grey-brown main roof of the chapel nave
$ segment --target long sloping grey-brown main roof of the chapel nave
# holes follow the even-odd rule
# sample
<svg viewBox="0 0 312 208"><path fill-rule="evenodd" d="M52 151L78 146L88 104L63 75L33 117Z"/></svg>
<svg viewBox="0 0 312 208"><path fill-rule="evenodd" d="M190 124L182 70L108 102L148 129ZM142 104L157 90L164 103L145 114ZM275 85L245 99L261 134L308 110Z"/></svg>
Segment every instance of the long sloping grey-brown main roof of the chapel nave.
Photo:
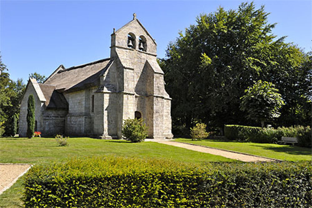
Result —
<svg viewBox="0 0 312 208"><path fill-rule="evenodd" d="M110 58L101 59L88 64L59 70L54 75L50 76L43 84L53 85L55 89L62 89L64 91L74 86L81 87L88 84L92 85L96 78L98 78L98 75L100 75L100 71L105 68L109 61Z"/></svg>

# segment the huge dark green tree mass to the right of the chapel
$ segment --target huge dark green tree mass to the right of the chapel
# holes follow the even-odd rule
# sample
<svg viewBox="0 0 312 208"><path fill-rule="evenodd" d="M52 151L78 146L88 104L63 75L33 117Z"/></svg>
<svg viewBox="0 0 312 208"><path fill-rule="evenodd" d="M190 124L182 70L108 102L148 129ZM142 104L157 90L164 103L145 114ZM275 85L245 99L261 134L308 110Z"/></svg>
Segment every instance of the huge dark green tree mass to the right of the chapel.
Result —
<svg viewBox="0 0 312 208"><path fill-rule="evenodd" d="M201 14L168 45L160 64L173 99L173 127L189 129L198 120L220 127L255 124L239 106L244 90L258 80L273 83L285 100L281 118L290 120L276 125L309 121L311 56L274 36L267 16L264 6L255 9L253 3L229 11L219 7Z"/></svg>

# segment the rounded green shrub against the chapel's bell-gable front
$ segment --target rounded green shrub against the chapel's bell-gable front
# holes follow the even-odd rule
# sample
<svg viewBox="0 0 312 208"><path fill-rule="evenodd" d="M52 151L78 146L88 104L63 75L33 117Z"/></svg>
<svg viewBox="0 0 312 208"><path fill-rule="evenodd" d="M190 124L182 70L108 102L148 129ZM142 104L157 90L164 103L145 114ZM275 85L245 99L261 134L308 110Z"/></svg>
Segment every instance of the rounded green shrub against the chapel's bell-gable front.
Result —
<svg viewBox="0 0 312 208"><path fill-rule="evenodd" d="M126 119L122 125L122 135L131 142L142 142L148 136L143 119Z"/></svg>

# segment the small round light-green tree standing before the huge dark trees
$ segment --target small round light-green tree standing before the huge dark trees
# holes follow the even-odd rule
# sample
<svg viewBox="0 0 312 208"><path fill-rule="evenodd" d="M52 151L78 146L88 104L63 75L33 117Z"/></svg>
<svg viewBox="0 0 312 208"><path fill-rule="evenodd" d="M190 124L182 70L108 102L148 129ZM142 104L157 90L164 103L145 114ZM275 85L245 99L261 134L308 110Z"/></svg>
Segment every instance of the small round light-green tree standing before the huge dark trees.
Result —
<svg viewBox="0 0 312 208"><path fill-rule="evenodd" d="M241 97L241 110L247 112L247 118L260 121L262 128L264 122L280 116L280 109L284 105L278 89L269 82L259 80L245 90Z"/></svg>

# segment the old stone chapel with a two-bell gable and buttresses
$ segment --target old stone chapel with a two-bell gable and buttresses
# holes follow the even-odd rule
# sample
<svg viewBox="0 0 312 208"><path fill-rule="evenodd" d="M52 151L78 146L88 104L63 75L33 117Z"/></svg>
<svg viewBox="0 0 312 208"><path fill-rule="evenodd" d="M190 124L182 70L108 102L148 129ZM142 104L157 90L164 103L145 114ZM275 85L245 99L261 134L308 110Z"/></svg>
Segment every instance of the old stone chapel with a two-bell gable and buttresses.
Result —
<svg viewBox="0 0 312 208"><path fill-rule="evenodd" d="M124 119L143 118L149 138L172 138L171 98L156 60L156 42L133 20L111 34L110 58L65 68L43 84L29 79L22 97L19 135L27 132L27 100L35 97L35 131L122 138Z"/></svg>

